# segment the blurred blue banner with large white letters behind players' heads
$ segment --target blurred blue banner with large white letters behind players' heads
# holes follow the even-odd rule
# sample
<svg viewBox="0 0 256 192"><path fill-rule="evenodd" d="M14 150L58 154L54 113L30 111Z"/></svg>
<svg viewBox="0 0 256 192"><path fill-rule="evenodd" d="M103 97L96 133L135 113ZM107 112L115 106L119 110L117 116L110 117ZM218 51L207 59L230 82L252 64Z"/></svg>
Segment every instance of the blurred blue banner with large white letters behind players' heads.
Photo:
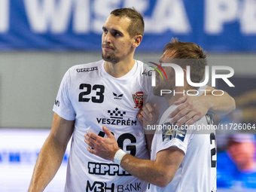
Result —
<svg viewBox="0 0 256 192"><path fill-rule="evenodd" d="M255 51L255 0L1 0L0 50L101 50L115 8L145 18L138 50L162 51L177 37L206 50Z"/></svg>

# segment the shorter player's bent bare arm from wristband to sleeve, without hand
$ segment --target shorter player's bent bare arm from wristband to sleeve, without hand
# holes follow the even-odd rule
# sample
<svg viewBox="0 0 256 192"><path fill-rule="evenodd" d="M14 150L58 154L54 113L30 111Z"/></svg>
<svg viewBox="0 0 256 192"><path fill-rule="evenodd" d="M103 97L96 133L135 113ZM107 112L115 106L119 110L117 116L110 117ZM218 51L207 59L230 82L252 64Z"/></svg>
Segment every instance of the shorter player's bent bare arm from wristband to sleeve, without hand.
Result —
<svg viewBox="0 0 256 192"><path fill-rule="evenodd" d="M120 166L136 178L158 187L166 187L174 178L184 158L184 152L170 147L157 153L156 160L142 160L126 154Z"/></svg>

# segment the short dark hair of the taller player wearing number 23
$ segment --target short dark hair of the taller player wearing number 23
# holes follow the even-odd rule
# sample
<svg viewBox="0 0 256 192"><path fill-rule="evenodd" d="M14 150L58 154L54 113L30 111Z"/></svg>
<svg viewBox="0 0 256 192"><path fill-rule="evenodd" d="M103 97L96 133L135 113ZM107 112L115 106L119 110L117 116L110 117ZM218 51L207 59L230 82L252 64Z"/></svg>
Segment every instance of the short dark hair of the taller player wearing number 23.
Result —
<svg viewBox="0 0 256 192"><path fill-rule="evenodd" d="M119 8L111 11L110 14L118 17L128 17L131 22L128 26L128 33L131 38L136 35L144 35L144 20L141 14L135 8Z"/></svg>

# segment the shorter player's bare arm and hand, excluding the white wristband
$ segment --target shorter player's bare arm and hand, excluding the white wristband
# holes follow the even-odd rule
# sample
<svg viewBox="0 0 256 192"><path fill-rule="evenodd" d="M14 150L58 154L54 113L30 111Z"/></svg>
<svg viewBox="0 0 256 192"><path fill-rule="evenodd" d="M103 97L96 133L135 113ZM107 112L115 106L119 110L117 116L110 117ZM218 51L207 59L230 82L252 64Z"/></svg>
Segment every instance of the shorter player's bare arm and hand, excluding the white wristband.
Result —
<svg viewBox="0 0 256 192"><path fill-rule="evenodd" d="M107 138L87 132L84 142L89 145L87 150L106 160L114 161L114 154L120 149L111 132L103 126ZM184 152L176 147L170 147L157 153L156 160L142 160L130 154L125 154L120 166L142 181L147 181L159 187L166 187L178 170Z"/></svg>

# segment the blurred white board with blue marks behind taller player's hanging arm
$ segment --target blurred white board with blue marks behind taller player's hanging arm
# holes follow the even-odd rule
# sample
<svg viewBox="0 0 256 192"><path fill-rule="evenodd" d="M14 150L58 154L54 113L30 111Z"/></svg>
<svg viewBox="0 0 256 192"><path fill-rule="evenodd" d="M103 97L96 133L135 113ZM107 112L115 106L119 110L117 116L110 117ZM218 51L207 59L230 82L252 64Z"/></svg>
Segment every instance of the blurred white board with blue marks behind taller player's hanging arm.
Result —
<svg viewBox="0 0 256 192"><path fill-rule="evenodd" d="M21 192L29 189L35 161L50 130L0 129L0 191ZM64 190L70 142L53 180L44 192Z"/></svg>

